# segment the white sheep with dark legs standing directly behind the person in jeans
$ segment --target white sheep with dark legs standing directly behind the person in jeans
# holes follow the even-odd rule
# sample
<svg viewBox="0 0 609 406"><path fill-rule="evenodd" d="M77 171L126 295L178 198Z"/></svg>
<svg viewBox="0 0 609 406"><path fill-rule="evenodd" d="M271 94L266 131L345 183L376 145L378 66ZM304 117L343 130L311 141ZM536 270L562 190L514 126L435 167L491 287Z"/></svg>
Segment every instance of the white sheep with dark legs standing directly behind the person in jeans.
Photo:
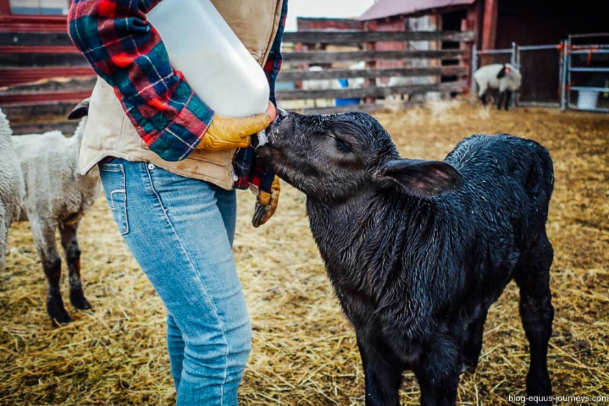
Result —
<svg viewBox="0 0 609 406"><path fill-rule="evenodd" d="M70 316L60 292L61 257L57 253L55 231L59 229L66 254L70 281L70 302L77 309L90 309L80 277L81 249L77 231L81 218L101 192L99 172L88 175L77 171L78 155L87 123L88 99L79 103L68 118L81 118L74 136L61 131L14 136L13 144L25 180L25 204L21 220L29 220L36 251L47 277L47 312L55 323L66 323Z"/></svg>

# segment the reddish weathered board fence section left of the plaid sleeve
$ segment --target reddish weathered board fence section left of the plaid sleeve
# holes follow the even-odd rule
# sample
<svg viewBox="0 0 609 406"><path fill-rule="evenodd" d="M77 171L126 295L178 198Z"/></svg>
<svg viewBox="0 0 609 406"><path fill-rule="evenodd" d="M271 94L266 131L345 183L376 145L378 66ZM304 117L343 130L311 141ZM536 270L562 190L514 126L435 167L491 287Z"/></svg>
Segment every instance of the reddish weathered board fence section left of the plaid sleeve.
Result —
<svg viewBox="0 0 609 406"><path fill-rule="evenodd" d="M30 16L0 24L0 106L15 134L59 129L75 103L91 93L94 71L66 33L66 18Z"/></svg>

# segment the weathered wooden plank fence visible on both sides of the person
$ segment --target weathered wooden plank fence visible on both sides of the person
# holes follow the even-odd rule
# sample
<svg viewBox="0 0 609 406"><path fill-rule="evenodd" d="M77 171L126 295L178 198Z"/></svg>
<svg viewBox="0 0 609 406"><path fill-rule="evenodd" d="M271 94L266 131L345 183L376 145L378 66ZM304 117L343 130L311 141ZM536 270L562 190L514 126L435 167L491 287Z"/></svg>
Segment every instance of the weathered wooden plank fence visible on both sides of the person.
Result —
<svg viewBox="0 0 609 406"><path fill-rule="evenodd" d="M393 94L467 92L469 49L473 39L474 33L470 31L286 32L276 98L280 106L314 113L377 110L383 107L378 101ZM428 49L412 49L408 44L413 41L431 45ZM448 43L452 47L442 49ZM383 44L397 46L387 49ZM348 68L360 61L365 61L364 69ZM412 64L412 61L419 63ZM393 64L387 67L387 62ZM325 68L309 71L312 65ZM388 77L427 79L392 87L383 86L378 80ZM364 85L323 90L301 88L304 80L355 78ZM92 69L64 31L0 29L0 105L11 120L15 134L49 128L73 131L76 123L55 117L50 124L48 118L65 116L75 103L90 94L93 85ZM315 99L331 103L324 107L307 103ZM337 99L359 99L359 103L342 106L332 103Z"/></svg>

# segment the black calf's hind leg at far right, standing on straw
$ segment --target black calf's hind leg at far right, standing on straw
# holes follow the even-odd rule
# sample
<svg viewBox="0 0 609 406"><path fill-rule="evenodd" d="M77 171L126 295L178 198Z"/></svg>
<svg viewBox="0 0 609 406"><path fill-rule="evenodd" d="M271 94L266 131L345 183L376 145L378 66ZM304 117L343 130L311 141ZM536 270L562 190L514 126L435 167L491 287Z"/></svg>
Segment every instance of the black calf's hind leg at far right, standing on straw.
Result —
<svg viewBox="0 0 609 406"><path fill-rule="evenodd" d="M523 259L516 283L520 288L520 317L529 341L531 363L526 378L528 396L551 396L552 383L547 372L547 346L552 335L552 293L549 290L549 268L552 245L544 236L536 249ZM527 405L550 405L551 402Z"/></svg>

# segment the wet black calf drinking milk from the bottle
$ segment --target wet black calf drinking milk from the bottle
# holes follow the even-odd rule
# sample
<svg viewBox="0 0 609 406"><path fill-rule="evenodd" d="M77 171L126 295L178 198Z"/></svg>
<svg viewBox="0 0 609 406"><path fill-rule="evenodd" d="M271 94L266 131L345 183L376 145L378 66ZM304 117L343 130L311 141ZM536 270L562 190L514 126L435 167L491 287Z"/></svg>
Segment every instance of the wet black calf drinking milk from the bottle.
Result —
<svg viewBox="0 0 609 406"><path fill-rule="evenodd" d="M554 174L545 148L474 135L444 161L408 160L360 112L290 112L268 136L258 155L307 195L313 237L357 335L366 405L399 405L406 369L422 405L454 405L460 373L478 363L487 310L512 279L530 342L527 394L550 404Z"/></svg>

